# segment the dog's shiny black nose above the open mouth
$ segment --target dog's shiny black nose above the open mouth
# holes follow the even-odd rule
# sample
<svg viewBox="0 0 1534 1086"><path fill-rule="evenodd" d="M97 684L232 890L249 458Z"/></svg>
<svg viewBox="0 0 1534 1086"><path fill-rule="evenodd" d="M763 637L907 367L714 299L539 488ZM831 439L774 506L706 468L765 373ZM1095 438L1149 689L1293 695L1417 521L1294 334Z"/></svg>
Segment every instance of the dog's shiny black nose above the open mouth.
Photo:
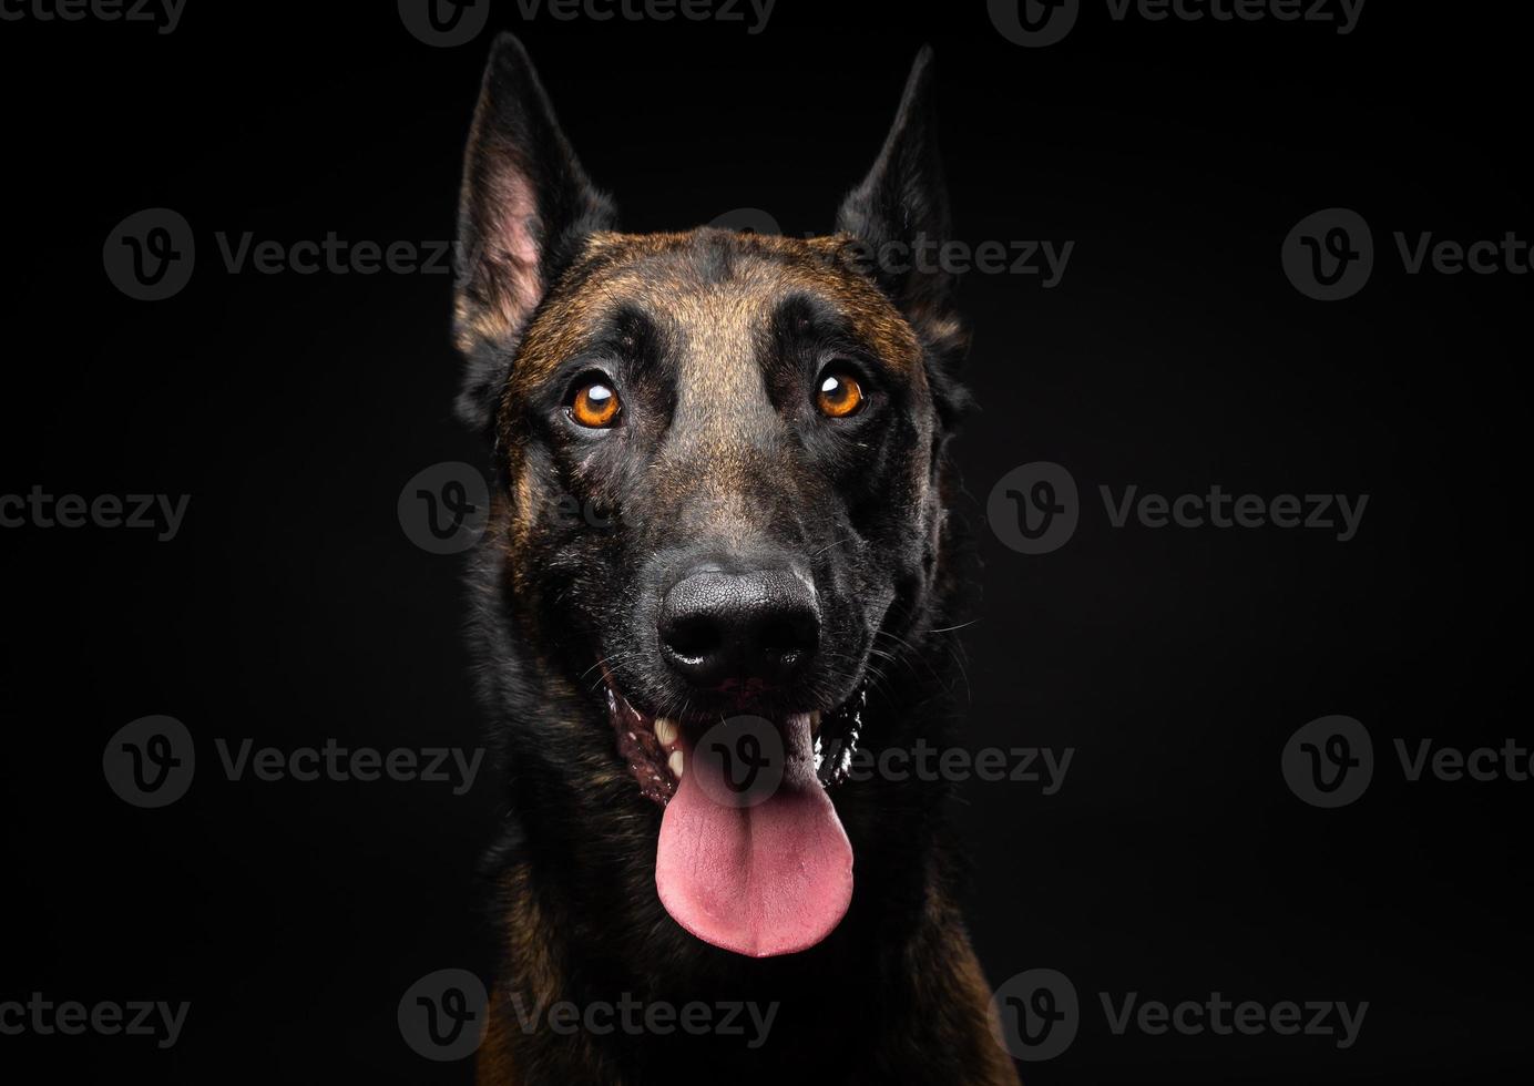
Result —
<svg viewBox="0 0 1534 1086"><path fill-rule="evenodd" d="M821 641L815 589L787 569L693 572L666 592L657 626L666 661L703 687L784 683Z"/></svg>

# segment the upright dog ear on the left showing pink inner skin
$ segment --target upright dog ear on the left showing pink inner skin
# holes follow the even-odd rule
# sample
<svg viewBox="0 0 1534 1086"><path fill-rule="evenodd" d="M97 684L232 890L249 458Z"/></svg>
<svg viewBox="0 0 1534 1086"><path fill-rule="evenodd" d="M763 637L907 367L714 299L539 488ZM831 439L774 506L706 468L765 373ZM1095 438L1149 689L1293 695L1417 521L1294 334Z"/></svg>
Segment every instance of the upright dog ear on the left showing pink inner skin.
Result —
<svg viewBox="0 0 1534 1086"><path fill-rule="evenodd" d="M459 417L488 429L528 319L586 236L617 224L511 34L491 48L463 161L454 337L468 373Z"/></svg>

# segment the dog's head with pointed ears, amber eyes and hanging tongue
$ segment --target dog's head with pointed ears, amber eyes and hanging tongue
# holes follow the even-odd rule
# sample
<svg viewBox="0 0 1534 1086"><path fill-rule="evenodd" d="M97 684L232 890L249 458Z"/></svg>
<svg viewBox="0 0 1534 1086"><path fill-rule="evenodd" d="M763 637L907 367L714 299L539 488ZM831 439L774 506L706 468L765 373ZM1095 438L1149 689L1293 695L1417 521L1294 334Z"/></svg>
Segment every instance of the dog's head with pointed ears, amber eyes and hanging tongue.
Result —
<svg viewBox="0 0 1534 1086"><path fill-rule="evenodd" d="M591 756L664 807L663 903L746 954L845 911L825 788L940 569L962 337L945 278L885 261L946 235L931 114L923 54L839 233L802 241L620 233L512 38L469 140L460 411L499 452L497 606L606 718ZM729 801L721 724L773 747L770 796Z"/></svg>

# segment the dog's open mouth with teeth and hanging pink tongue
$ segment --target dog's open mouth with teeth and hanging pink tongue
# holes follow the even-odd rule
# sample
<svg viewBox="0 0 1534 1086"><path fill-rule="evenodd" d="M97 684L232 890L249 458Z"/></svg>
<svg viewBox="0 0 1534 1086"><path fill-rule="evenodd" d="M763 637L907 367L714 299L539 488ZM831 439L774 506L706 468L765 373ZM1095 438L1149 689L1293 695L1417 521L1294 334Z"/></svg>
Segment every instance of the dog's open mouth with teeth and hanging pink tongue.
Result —
<svg viewBox="0 0 1534 1086"><path fill-rule="evenodd" d="M831 712L701 727L650 716L607 683L618 752L666 808L661 903L707 943L750 957L808 949L851 903L853 854L827 788L862 729L862 689Z"/></svg>

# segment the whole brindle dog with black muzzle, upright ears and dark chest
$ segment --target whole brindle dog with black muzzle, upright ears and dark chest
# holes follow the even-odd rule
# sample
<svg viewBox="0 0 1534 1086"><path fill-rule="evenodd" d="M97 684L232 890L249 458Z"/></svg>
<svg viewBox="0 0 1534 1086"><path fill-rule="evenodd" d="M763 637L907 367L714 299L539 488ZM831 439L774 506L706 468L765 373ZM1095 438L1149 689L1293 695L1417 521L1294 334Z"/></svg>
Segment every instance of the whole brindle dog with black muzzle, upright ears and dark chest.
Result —
<svg viewBox="0 0 1534 1086"><path fill-rule="evenodd" d="M831 236L627 235L492 48L454 298L508 782L485 1086L1017 1083L948 788L850 772L954 727L966 333L884 256L948 236L934 114L923 49Z"/></svg>

